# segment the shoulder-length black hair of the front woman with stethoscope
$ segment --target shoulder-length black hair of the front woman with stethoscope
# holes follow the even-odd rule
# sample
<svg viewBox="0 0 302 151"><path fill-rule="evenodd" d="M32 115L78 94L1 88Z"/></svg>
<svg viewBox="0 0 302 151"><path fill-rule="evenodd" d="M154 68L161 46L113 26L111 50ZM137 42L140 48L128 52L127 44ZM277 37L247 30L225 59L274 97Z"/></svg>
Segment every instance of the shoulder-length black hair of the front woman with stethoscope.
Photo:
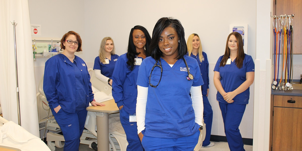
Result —
<svg viewBox="0 0 302 151"><path fill-rule="evenodd" d="M185 54L187 54L187 44L185 40L185 30L182 27L182 24L179 20L163 17L160 18L154 26L153 33L152 33L152 40L150 43L150 56L153 59L158 60L162 56L162 51L160 51L158 47L159 37L162 34L162 31L166 28L171 26L177 33L177 36L180 40L178 43L178 58L181 59Z"/></svg>

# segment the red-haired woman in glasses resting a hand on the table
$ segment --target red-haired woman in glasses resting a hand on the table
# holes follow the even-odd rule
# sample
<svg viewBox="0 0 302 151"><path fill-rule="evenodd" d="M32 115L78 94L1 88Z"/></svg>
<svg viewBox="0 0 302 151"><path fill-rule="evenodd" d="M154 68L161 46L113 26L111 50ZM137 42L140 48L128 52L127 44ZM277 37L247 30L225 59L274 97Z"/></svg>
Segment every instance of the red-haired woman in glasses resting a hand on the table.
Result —
<svg viewBox="0 0 302 151"><path fill-rule="evenodd" d="M94 100L86 63L75 52L82 51L78 33L69 31L61 39L63 53L45 63L43 90L49 107L62 130L64 151L79 150L89 102L104 106Z"/></svg>

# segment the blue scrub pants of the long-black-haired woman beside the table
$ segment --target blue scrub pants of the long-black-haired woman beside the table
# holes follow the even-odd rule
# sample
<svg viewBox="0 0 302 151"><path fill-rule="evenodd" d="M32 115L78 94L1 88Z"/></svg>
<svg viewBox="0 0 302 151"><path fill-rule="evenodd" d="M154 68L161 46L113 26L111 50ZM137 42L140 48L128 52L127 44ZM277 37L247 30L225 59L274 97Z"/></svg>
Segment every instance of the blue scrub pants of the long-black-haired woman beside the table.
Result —
<svg viewBox="0 0 302 151"><path fill-rule="evenodd" d="M122 124L127 141L127 151L143 151L142 143L140 142L140 137L137 134L137 123L129 122L129 113L122 108L120 110L120 123Z"/></svg>

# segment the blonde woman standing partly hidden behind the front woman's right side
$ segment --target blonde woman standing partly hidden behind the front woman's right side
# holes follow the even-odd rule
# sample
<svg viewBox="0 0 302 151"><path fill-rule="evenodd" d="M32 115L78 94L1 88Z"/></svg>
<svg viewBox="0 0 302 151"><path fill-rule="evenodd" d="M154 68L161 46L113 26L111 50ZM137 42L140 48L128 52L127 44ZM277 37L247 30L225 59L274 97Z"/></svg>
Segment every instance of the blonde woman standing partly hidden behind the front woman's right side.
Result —
<svg viewBox="0 0 302 151"><path fill-rule="evenodd" d="M198 34L191 34L187 40L188 56L195 58L199 64L202 79L204 85L201 85L202 98L204 102L204 123L206 124L206 137L202 142L203 147L214 146L213 142L210 142L212 121L213 121L213 110L211 104L207 98L209 95L209 62L207 54L202 51L200 44L200 38Z"/></svg>

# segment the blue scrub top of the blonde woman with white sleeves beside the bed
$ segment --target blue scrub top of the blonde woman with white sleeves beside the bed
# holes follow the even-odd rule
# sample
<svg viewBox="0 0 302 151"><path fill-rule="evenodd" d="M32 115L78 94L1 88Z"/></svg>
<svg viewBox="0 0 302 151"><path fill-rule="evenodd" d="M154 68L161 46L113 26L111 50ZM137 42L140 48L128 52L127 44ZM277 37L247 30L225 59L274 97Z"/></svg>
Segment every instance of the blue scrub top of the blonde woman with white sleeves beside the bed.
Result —
<svg viewBox="0 0 302 151"><path fill-rule="evenodd" d="M93 66L93 69L101 70L102 75L112 79L111 77L117 58L118 58L117 54L111 55L111 60L109 60L109 64L103 64L100 61L100 57L97 56L95 57L95 64Z"/></svg>

